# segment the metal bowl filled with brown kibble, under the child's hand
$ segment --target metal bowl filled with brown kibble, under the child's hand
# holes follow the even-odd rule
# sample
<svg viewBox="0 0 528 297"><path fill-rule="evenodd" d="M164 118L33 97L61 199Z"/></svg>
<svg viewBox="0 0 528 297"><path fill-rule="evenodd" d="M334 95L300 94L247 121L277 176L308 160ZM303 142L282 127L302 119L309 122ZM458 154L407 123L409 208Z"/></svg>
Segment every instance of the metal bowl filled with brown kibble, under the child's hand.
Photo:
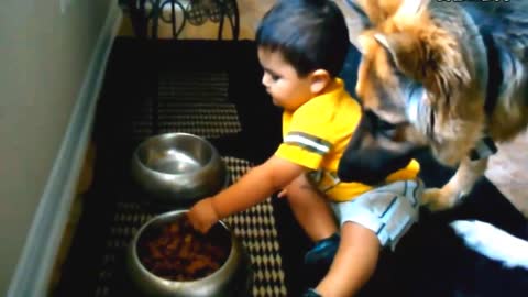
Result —
<svg viewBox="0 0 528 297"><path fill-rule="evenodd" d="M201 234L187 210L158 215L143 224L127 251L127 271L142 296L248 296L249 254L222 221Z"/></svg>

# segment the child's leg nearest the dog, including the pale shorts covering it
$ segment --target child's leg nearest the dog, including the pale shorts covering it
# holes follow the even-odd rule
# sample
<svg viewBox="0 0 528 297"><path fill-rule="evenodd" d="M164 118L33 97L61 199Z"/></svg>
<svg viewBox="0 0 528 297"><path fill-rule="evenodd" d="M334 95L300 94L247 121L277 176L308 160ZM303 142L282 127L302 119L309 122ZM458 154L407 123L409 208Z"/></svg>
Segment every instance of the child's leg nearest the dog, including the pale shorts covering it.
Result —
<svg viewBox="0 0 528 297"><path fill-rule="evenodd" d="M419 180L399 180L336 204L341 242L317 293L321 296L358 294L374 273L382 246L394 249L418 219L422 190L424 184Z"/></svg>

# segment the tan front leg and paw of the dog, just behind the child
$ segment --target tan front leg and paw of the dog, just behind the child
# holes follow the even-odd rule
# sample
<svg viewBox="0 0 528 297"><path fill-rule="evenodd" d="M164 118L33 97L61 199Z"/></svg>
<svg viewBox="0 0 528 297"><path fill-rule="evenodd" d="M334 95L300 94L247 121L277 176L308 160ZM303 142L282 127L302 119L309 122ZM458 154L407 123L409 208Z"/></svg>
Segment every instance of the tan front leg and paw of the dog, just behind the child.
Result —
<svg viewBox="0 0 528 297"><path fill-rule="evenodd" d="M470 194L475 182L483 176L486 166L487 157L476 161L464 157L442 188L428 188L424 191L421 204L432 211L452 208Z"/></svg>

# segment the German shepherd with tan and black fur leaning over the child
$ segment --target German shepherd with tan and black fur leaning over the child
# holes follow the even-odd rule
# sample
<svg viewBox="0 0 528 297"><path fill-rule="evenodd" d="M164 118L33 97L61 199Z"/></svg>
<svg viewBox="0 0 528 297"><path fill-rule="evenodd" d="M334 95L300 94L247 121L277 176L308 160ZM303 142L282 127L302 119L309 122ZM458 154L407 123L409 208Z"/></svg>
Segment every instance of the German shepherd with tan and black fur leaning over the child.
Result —
<svg viewBox="0 0 528 297"><path fill-rule="evenodd" d="M446 185L422 197L431 210L453 207L484 174L494 142L509 141L528 125L528 1L346 3L364 24L356 43L359 99L397 131L396 151L428 146L440 163L457 166ZM473 248L504 235L484 224L453 227ZM494 235L481 240L479 232ZM528 243L521 246L524 253L507 251L510 258L503 261L528 268Z"/></svg>

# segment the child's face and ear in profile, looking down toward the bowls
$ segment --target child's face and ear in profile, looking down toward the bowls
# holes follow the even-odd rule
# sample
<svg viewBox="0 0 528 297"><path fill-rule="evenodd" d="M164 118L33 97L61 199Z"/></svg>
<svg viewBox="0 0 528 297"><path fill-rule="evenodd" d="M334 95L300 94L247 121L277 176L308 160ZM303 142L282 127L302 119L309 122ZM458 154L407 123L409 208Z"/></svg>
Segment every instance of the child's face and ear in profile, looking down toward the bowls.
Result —
<svg viewBox="0 0 528 297"><path fill-rule="evenodd" d="M293 111L314 97L310 76L299 77L280 52L258 47L258 61L264 68L262 84L274 105Z"/></svg>

